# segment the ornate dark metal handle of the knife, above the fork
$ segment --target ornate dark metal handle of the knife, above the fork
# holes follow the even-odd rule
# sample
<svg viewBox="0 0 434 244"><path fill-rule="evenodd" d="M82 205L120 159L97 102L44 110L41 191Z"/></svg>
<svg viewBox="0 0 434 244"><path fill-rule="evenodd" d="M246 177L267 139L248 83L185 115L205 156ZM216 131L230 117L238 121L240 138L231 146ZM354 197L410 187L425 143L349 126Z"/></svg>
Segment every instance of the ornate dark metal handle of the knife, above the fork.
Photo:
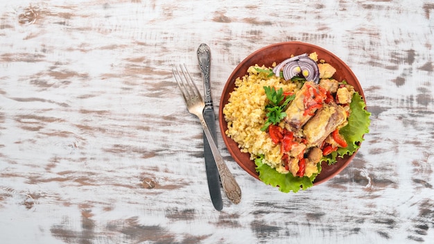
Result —
<svg viewBox="0 0 434 244"><path fill-rule="evenodd" d="M205 43L200 44L198 47L198 62L204 84L203 89L205 107L212 107L211 87L209 85L209 73L211 69L211 49L209 49L209 46Z"/></svg>

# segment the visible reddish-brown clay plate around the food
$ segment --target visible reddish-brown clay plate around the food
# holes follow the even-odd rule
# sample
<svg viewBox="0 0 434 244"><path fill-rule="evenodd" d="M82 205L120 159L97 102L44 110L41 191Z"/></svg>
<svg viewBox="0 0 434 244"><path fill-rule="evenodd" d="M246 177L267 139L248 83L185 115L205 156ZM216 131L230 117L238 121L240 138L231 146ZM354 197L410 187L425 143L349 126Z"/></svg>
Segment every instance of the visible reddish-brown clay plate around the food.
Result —
<svg viewBox="0 0 434 244"><path fill-rule="evenodd" d="M248 57L245 58L240 64L238 64L238 66L227 79L226 85L223 88L220 99L220 108L218 111L218 120L223 141L225 141L227 150L229 150L229 153L232 155L235 162L237 162L239 166L241 166L241 168L243 168L247 173L258 180L259 175L255 170L256 165L252 160L250 160L249 153L241 153L240 148L238 148L238 143L227 137L225 134L225 131L227 130L227 122L225 121L225 117L223 115L223 107L225 107L227 104L230 93L234 91L236 78L245 76L250 66L258 64L259 66L265 65L266 67L271 67L273 62L278 64L286 58L289 58L291 55L300 55L302 53L309 54L313 52L318 54L319 59L325 60L336 69L336 73L334 74L333 78L339 81L346 80L350 85L353 85L354 89L361 94L363 99L365 99L365 95L363 94L363 89L360 83L345 62L340 60L340 58L330 51L327 51L320 46L315 46L313 44L304 42L280 42L255 51L254 53L248 55ZM346 155L343 158L338 158L338 162L331 166L329 166L326 162L322 162L322 171L315 178L313 184L317 185L322 182L326 182L327 180L330 180L331 177L340 173L340 171L348 166L356 153L351 156Z"/></svg>

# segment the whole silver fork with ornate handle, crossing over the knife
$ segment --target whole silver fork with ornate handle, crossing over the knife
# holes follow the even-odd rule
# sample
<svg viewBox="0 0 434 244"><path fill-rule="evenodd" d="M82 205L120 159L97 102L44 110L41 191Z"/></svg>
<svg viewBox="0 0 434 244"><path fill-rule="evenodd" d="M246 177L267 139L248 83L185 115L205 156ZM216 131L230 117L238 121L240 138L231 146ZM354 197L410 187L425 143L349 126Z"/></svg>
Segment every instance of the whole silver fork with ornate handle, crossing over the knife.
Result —
<svg viewBox="0 0 434 244"><path fill-rule="evenodd" d="M214 156L214 160L216 160L216 165L218 168L218 173L220 174L220 180L222 182L223 191L229 200L238 204L241 200L241 189L236 183L234 175L232 175L229 168L225 164L222 155L218 151L216 142L211 136L211 132L209 132L209 128L205 119L203 119L203 109L205 107L205 103L203 102L202 96L200 96L200 92L198 87L193 82L193 78L191 78L189 71L180 65L180 70L177 67L173 67L173 77L177 82L178 87L180 87L182 96L184 97L184 101L187 105L187 109L191 114L198 116L200 120L200 124L202 124L203 131L205 132L205 136L209 141L209 146L211 148L211 152Z"/></svg>

